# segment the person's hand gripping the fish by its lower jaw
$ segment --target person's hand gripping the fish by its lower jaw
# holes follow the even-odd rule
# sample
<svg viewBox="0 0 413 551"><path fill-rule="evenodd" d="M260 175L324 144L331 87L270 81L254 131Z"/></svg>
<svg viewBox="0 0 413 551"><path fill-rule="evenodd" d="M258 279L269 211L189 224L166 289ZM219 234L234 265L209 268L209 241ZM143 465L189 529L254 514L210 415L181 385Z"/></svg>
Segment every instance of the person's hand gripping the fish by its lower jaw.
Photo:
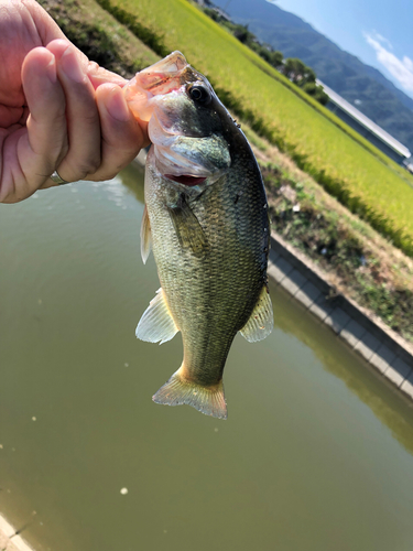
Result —
<svg viewBox="0 0 413 551"><path fill-rule="evenodd" d="M34 0L0 0L0 203L113 177L146 145L126 80L90 62Z"/></svg>

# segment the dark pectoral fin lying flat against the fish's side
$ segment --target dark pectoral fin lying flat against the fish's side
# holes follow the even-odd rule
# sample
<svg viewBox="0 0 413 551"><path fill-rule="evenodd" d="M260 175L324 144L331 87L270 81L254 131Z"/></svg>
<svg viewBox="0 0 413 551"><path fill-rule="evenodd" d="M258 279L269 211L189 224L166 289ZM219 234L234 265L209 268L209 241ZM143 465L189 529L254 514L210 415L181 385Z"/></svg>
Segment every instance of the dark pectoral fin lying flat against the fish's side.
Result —
<svg viewBox="0 0 413 551"><path fill-rule="evenodd" d="M208 240L185 195L180 196L176 206L170 207L170 215L181 247L189 249L196 257L204 255Z"/></svg>

